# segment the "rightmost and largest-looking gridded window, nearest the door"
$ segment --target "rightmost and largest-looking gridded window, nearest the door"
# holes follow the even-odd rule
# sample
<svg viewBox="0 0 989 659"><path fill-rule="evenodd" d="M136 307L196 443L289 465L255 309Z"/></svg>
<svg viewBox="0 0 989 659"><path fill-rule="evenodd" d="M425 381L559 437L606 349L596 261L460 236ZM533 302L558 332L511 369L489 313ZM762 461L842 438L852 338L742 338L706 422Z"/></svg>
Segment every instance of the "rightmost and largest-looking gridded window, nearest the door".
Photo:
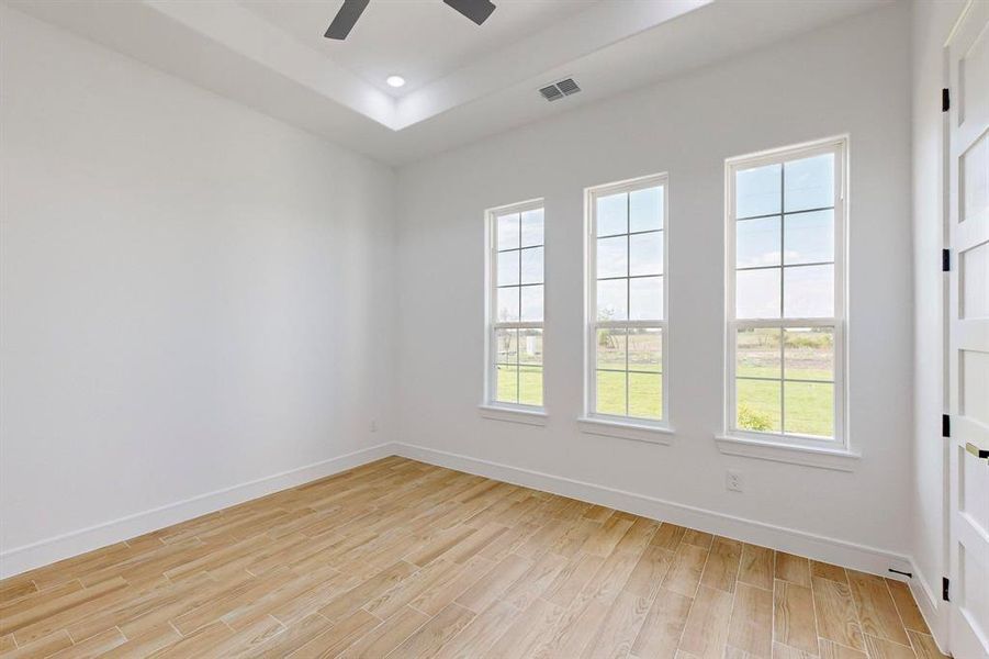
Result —
<svg viewBox="0 0 989 659"><path fill-rule="evenodd" d="M846 150L727 163L730 434L843 442Z"/></svg>

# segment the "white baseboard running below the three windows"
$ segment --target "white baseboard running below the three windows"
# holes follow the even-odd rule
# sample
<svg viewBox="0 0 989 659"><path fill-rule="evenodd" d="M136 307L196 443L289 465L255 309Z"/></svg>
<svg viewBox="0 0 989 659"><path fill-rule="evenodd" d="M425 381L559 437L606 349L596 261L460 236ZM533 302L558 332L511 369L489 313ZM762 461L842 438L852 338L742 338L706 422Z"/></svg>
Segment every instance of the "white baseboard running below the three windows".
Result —
<svg viewBox="0 0 989 659"><path fill-rule="evenodd" d="M626 492L423 446L395 443L393 447L396 455L430 465L552 492L652 520L668 521L681 526L688 526L782 551L799 554L814 560L827 561L863 572L902 579L898 574L889 572L889 568L901 571L910 571L911 569L911 561L908 557L876 547L829 538L795 528L775 526L764 522L664 501L644 494Z"/></svg>

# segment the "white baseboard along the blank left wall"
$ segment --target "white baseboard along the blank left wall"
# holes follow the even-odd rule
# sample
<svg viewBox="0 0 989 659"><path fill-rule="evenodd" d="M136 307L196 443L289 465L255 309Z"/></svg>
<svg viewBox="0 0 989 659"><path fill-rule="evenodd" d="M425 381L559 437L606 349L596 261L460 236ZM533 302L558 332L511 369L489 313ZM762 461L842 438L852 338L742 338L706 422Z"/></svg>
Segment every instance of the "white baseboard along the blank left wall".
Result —
<svg viewBox="0 0 989 659"><path fill-rule="evenodd" d="M0 579L394 455L380 444L0 552Z"/></svg>

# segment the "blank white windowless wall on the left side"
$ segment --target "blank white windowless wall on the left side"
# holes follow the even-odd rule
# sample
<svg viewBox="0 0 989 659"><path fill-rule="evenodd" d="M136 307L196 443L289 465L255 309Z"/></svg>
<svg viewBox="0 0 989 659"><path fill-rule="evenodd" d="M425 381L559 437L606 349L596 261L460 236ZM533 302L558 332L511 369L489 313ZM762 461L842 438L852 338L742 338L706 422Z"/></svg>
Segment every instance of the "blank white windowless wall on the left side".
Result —
<svg viewBox="0 0 989 659"><path fill-rule="evenodd" d="M0 12L0 570L381 443L394 172Z"/></svg>

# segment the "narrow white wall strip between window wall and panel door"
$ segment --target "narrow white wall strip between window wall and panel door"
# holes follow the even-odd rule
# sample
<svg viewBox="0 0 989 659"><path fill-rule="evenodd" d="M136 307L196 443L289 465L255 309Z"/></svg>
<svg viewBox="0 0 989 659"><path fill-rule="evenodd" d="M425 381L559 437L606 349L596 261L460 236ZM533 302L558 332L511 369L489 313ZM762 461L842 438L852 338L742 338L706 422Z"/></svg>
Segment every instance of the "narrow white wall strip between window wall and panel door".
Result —
<svg viewBox="0 0 989 659"><path fill-rule="evenodd" d="M944 114L947 86L944 43L965 0L913 3L913 470L912 534L914 594L940 641L947 628L941 604L945 555L947 443L941 437L944 404L944 317L946 276L941 271L944 241Z"/></svg>

